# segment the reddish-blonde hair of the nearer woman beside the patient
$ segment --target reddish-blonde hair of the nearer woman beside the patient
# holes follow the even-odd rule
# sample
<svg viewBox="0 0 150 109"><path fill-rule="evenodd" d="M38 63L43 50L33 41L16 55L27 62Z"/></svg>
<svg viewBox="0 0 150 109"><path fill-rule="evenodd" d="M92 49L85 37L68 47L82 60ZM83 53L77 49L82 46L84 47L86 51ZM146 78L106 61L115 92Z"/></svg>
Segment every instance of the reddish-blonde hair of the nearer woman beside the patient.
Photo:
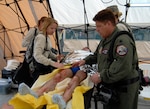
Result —
<svg viewBox="0 0 150 109"><path fill-rule="evenodd" d="M43 26L42 26L42 29L41 31L43 32L43 34L46 36L47 33L47 28L49 25L53 24L53 23L56 23L58 25L58 22L54 19L54 18L51 18L51 17L47 17L44 22L43 22Z"/></svg>

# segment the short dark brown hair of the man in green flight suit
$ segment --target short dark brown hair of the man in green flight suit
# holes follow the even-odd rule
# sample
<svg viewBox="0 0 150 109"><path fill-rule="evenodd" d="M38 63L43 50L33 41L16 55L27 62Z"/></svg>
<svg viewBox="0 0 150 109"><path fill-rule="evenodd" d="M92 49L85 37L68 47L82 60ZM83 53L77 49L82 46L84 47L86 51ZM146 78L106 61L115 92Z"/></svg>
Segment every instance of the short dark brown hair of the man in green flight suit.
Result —
<svg viewBox="0 0 150 109"><path fill-rule="evenodd" d="M115 16L113 12L110 11L109 9L99 11L93 18L93 21L100 21L100 22L111 21L113 25L116 25Z"/></svg>

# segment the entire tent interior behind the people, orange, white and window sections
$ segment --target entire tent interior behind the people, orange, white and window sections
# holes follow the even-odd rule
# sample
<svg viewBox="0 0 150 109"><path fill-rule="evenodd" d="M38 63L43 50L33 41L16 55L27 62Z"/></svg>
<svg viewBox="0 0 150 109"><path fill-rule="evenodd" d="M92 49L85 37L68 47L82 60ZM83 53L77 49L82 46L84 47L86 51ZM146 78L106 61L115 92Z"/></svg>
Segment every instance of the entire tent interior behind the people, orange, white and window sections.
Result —
<svg viewBox="0 0 150 109"><path fill-rule="evenodd" d="M83 1L85 4L83 4ZM146 58L150 59L148 57L150 54L148 48L150 46L150 27L148 27L150 25L150 14L147 14L150 11L150 6L131 6L128 9L128 16L126 16L125 12L127 11L127 7L125 4L129 1L132 5L150 4L149 0L1 0L0 59L3 59L4 62L11 58L17 58L19 60L21 58L22 60L23 54L20 54L19 51L26 49L21 46L23 37L29 28L34 27L37 20L45 15L53 16L61 26L58 29L59 38L53 38L55 48L60 46L62 52L68 52L89 46L94 51L101 38L95 31L95 26L91 26L91 24L94 25L92 18L99 10L112 4L117 4L119 10L123 12L122 18L127 23L134 25L132 29L135 40L146 42L144 43L144 49L139 48L141 49L139 55L146 57L145 54L147 54ZM145 12L147 13L144 14ZM135 14L135 16L132 14ZM142 27L137 26L137 24L142 25ZM66 25L69 25L69 27ZM78 25L78 27L70 27L72 25ZM58 39L60 45L57 42ZM79 43L80 41L81 43ZM69 48L70 46L72 47ZM145 51L146 53L142 55ZM4 65L1 60L0 62L2 63L1 65Z"/></svg>

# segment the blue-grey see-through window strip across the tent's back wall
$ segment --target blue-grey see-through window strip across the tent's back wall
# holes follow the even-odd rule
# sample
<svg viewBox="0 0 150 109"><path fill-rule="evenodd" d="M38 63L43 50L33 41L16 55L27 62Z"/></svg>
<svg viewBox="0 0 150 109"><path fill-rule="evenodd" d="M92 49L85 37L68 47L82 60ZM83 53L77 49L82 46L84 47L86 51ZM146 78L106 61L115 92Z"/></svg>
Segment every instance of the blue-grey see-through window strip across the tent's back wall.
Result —
<svg viewBox="0 0 150 109"><path fill-rule="evenodd" d="M61 31L59 30L59 35L61 35ZM85 33L84 28L82 29L71 29L66 28L63 31L65 31L64 39L80 39L80 40L86 40L87 37L89 39L101 39L100 35L96 32L95 29L89 29L88 33ZM150 28L132 28L132 32L134 34L134 39L136 41L150 41ZM88 36L87 36L88 34Z"/></svg>

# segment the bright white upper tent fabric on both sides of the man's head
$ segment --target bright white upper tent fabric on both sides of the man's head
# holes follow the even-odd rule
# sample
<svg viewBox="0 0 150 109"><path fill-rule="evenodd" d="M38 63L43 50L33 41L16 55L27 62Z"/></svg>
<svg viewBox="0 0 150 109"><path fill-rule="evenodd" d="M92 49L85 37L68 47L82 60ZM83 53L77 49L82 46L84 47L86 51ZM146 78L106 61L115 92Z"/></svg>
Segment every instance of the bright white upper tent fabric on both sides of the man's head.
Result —
<svg viewBox="0 0 150 109"><path fill-rule="evenodd" d="M93 24L94 15L101 9L110 5L118 5L123 13L122 18L133 25L150 25L150 1L149 0L49 0L54 17L61 25L84 24L84 6L88 23ZM130 1L130 3L128 2ZM145 5L144 5L145 4ZM127 7L125 5L130 5Z"/></svg>

